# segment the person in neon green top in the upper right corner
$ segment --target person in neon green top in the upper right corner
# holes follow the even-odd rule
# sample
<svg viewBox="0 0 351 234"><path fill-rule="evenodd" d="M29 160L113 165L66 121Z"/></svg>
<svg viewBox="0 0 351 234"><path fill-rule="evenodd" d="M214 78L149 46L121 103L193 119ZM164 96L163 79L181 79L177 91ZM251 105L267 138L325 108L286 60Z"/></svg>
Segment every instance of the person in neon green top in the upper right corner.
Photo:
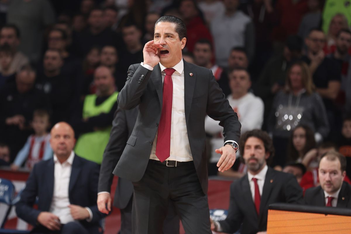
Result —
<svg viewBox="0 0 351 234"><path fill-rule="evenodd" d="M330 21L336 14L343 14L346 16L348 25L351 24L350 3L340 0L326 0L323 9L322 29L325 34L328 33Z"/></svg>

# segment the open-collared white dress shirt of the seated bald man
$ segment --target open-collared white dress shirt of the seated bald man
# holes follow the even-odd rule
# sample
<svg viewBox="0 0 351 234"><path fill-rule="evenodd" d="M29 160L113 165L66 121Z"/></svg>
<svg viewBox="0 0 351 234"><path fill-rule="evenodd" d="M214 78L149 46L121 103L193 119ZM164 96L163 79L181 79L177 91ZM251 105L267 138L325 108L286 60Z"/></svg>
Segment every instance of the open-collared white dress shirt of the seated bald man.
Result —
<svg viewBox="0 0 351 234"><path fill-rule="evenodd" d="M50 213L58 216L61 224L75 221L71 215L71 209L68 207L69 202L68 186L71 178L72 163L74 159L74 152L71 152L68 159L60 163L57 156L54 154L54 191L52 195L52 202L49 209ZM89 212L88 222L92 220L93 213L90 208L85 207Z"/></svg>

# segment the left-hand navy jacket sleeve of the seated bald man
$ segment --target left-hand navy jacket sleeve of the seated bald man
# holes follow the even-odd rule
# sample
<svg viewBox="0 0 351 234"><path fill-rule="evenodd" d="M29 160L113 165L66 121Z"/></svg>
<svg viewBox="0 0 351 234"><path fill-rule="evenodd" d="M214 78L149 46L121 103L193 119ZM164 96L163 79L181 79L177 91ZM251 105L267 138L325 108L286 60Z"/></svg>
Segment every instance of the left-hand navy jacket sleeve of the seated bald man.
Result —
<svg viewBox="0 0 351 234"><path fill-rule="evenodd" d="M38 195L38 167L34 168L26 182L26 187L21 193L21 199L16 204L16 214L19 218L35 226L38 224L37 218L40 210L34 209L33 205Z"/></svg>

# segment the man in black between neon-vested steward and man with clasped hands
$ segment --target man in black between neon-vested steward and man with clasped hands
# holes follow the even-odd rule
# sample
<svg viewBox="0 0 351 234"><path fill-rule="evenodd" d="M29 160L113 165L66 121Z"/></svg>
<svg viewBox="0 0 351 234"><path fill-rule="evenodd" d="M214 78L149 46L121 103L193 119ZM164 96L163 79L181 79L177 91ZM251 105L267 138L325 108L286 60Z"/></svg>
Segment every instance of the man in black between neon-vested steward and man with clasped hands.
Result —
<svg viewBox="0 0 351 234"><path fill-rule="evenodd" d="M58 50L48 49L44 55L44 71L38 74L36 87L48 95L52 105L52 124L68 121L73 105L76 81L61 71L63 60Z"/></svg>

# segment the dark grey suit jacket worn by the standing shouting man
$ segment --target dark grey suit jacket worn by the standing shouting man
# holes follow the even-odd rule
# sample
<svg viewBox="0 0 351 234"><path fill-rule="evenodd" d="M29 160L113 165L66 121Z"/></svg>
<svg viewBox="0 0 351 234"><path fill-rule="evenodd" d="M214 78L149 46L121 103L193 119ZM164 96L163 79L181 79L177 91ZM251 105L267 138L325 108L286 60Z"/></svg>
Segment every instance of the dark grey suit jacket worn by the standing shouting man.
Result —
<svg viewBox="0 0 351 234"><path fill-rule="evenodd" d="M184 61L184 60L183 60ZM192 76L190 75L192 73ZM129 67L126 85L118 95L122 109L139 105L137 122L113 174L137 182L150 158L152 144L160 121L163 83L159 64L153 71L140 64ZM220 121L224 140L239 141L240 122L225 98L210 69L184 61L185 121L190 149L203 192L207 194L208 178L205 150L205 116Z"/></svg>

